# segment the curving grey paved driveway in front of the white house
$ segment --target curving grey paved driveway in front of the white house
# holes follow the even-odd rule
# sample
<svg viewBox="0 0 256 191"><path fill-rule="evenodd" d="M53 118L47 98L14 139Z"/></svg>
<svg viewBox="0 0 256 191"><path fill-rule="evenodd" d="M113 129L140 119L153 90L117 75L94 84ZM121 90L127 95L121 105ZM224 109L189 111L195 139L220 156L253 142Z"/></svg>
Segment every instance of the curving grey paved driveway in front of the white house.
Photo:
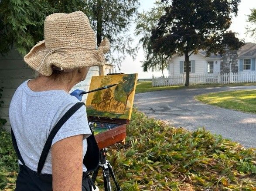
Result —
<svg viewBox="0 0 256 191"><path fill-rule="evenodd" d="M163 90L135 94L134 106L150 117L161 119L175 127L195 130L203 127L224 138L256 148L256 115L206 105L195 95L242 89L256 86L211 87L198 89Z"/></svg>

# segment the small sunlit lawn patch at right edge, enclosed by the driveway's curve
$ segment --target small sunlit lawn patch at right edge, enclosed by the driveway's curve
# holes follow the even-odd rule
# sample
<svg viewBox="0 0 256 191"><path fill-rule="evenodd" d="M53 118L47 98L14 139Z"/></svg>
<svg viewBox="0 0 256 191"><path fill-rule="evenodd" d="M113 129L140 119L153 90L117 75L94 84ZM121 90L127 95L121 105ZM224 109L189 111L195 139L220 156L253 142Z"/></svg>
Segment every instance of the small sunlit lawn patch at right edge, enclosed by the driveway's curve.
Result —
<svg viewBox="0 0 256 191"><path fill-rule="evenodd" d="M256 113L256 90L209 93L197 95L195 98L201 102L226 109Z"/></svg>

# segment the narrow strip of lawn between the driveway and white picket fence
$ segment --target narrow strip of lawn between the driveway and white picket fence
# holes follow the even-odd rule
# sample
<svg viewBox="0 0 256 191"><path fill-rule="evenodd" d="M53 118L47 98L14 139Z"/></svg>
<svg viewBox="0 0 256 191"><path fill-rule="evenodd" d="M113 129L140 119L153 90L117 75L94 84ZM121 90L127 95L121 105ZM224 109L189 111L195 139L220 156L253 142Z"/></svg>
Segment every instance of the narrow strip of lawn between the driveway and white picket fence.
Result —
<svg viewBox="0 0 256 191"><path fill-rule="evenodd" d="M212 84L212 85L198 85L198 86L162 86L162 87L152 87L151 81L137 82L135 93L152 92L160 90L172 90L172 89L182 89L182 88L204 88L204 87L221 87L221 86L255 86L256 83L239 83L239 84Z"/></svg>

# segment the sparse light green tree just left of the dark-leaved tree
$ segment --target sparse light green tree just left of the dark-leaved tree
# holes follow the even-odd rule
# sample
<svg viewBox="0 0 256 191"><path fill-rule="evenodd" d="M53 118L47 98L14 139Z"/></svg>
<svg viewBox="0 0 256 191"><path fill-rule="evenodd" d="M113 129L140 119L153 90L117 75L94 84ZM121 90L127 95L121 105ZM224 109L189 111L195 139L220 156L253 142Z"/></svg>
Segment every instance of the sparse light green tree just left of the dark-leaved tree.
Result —
<svg viewBox="0 0 256 191"><path fill-rule="evenodd" d="M143 61L143 71L151 69L151 71L163 72L167 68L167 62L162 53L154 53L152 50L152 43L150 41L151 30L157 26L157 21L160 19L164 13L164 3L157 0L154 8L151 8L148 12L142 12L138 14L136 22L135 34L137 36L142 35L139 43L143 45L145 52L145 60ZM163 73L164 76L164 73Z"/></svg>

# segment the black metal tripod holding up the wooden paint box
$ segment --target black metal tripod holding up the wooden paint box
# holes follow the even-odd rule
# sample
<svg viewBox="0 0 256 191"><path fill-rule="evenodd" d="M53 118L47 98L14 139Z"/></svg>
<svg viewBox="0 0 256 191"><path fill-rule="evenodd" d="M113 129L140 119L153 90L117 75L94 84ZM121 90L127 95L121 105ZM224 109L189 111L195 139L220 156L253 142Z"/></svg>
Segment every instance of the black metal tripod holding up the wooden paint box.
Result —
<svg viewBox="0 0 256 191"><path fill-rule="evenodd" d="M100 150L100 161L99 166L92 174L92 181L95 182L99 168L102 168L103 171L103 180L104 180L104 189L105 191L122 191L122 188L119 187L117 183L116 177L114 175L112 166L110 165L109 161L106 160L106 148ZM113 179L116 189L113 189L110 183L110 177Z"/></svg>

